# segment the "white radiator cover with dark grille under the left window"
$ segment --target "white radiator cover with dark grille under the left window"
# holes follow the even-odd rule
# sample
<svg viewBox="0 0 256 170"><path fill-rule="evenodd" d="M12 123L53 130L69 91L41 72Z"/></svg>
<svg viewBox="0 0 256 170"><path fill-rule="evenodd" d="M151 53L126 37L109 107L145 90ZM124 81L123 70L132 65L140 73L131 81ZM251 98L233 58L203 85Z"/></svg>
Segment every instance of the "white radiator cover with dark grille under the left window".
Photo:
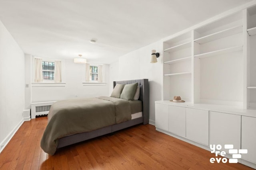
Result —
<svg viewBox="0 0 256 170"><path fill-rule="evenodd" d="M35 119L37 116L47 115L52 104L56 102L37 102L31 104L31 119Z"/></svg>

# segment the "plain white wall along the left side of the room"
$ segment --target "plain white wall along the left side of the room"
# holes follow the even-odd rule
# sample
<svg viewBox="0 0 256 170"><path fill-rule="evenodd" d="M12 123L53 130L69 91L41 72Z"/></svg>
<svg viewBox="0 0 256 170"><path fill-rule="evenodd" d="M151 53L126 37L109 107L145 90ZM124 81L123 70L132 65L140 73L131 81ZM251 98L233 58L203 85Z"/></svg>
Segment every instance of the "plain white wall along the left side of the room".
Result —
<svg viewBox="0 0 256 170"><path fill-rule="evenodd" d="M0 21L0 145L22 121L25 99L24 53ZM0 146L0 149L1 149Z"/></svg>

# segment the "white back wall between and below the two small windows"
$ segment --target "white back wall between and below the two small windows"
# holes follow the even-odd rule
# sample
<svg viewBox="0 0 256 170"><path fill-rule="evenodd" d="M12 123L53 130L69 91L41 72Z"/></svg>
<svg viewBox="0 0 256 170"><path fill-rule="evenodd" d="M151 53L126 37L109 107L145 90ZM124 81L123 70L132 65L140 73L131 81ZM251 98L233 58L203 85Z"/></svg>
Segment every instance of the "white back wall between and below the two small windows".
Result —
<svg viewBox="0 0 256 170"><path fill-rule="evenodd" d="M108 71L106 65L106 82L104 86L83 86L85 76L85 64L77 64L74 61L66 60L64 69L65 87L32 87L31 100L33 102L48 102L66 100L72 98L91 98L109 95ZM76 97L77 96L77 97Z"/></svg>

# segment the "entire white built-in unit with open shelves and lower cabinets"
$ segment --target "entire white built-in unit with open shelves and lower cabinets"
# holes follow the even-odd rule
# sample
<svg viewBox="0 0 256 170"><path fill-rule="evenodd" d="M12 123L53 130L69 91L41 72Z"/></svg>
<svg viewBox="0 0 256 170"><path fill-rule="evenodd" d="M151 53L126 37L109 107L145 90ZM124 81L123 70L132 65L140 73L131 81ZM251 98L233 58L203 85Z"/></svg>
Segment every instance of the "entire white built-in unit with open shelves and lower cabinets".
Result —
<svg viewBox="0 0 256 170"><path fill-rule="evenodd" d="M256 135L251 128L256 123L254 4L164 40L163 100L155 102L156 130L206 148L233 142L236 148L248 149L239 160L252 168L256 168ZM170 102L174 96L186 102ZM226 123L222 133L215 128L218 122Z"/></svg>

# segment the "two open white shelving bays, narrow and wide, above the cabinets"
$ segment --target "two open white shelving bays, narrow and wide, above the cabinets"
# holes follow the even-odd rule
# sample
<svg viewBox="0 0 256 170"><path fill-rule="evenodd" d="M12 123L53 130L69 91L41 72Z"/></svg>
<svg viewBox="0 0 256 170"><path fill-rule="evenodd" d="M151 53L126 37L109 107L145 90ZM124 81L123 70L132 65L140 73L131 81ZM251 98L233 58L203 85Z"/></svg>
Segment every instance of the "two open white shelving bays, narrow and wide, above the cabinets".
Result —
<svg viewBox="0 0 256 170"><path fill-rule="evenodd" d="M242 18L238 12L164 41L164 100L243 106Z"/></svg>

